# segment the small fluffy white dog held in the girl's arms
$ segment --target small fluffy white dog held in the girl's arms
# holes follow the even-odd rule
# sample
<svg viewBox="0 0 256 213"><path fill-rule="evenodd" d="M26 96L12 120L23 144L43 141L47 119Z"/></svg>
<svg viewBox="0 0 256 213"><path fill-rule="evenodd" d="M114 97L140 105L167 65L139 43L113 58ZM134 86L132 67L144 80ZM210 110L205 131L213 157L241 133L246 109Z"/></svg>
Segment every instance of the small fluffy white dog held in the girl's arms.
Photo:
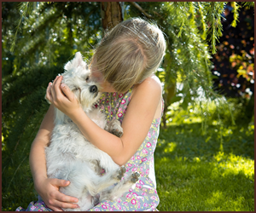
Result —
<svg viewBox="0 0 256 213"><path fill-rule="evenodd" d="M66 83L73 91L90 119L102 129L117 136L122 135L118 120L107 124L100 109L92 107L101 94L98 83L90 78L82 55L76 53L64 69L62 83ZM87 141L78 126L56 108L55 127L45 154L48 177L70 181L67 187L60 188L60 192L79 199L79 209L64 210L89 210L104 199L117 199L138 180L138 173L129 173L120 181L125 174L125 167L119 167L107 153ZM102 169L106 171L103 176Z"/></svg>

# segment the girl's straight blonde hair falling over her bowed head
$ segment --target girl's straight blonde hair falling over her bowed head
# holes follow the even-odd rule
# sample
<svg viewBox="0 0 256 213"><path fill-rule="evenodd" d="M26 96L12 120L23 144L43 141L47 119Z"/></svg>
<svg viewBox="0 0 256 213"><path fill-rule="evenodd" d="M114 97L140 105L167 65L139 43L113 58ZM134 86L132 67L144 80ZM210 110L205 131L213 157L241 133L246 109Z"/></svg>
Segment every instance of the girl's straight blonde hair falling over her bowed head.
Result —
<svg viewBox="0 0 256 213"><path fill-rule="evenodd" d="M140 18L125 20L102 38L90 65L102 72L113 89L125 92L156 72L165 51L158 26Z"/></svg>

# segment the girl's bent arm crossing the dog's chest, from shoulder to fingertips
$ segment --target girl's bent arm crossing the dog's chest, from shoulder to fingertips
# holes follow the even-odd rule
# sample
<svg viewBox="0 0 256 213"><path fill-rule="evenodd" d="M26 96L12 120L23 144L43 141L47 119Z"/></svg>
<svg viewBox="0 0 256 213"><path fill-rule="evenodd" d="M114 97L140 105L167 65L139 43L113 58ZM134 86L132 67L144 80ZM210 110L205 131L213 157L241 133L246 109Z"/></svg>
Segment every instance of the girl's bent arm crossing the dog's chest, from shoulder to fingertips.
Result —
<svg viewBox="0 0 256 213"><path fill-rule="evenodd" d="M102 130L88 118L73 93L56 78L46 97L61 112L78 125L83 135L96 147L108 153L116 164L125 164L137 152L148 134L155 112L160 105L160 81L154 77L138 84L132 92L131 101L122 123L124 135L121 138ZM66 95L63 95L62 92Z"/></svg>

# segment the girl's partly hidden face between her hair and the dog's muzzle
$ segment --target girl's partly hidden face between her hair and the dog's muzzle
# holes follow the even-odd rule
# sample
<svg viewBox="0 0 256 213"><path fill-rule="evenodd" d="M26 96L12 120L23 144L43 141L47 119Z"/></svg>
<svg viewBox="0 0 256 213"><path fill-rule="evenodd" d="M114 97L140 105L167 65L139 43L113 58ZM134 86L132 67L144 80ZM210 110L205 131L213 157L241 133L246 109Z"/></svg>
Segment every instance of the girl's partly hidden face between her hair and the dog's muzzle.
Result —
<svg viewBox="0 0 256 213"><path fill-rule="evenodd" d="M94 78L94 80L96 82L100 83L100 86L101 86L100 91L101 92L116 92L113 89L113 86L108 81L104 81L102 72L99 72L96 69L96 66L91 65L90 72L91 72L91 77Z"/></svg>

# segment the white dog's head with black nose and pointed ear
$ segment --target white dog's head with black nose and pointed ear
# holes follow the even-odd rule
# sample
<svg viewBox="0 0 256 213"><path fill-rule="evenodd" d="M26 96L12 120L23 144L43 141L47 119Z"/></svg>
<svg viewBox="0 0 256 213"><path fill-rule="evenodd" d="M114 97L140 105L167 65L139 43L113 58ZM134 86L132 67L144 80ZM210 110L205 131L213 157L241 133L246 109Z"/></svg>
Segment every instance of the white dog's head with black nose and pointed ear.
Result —
<svg viewBox="0 0 256 213"><path fill-rule="evenodd" d="M80 52L67 62L64 69L61 83L67 84L84 110L90 108L100 98L99 83L90 77L90 70Z"/></svg>

